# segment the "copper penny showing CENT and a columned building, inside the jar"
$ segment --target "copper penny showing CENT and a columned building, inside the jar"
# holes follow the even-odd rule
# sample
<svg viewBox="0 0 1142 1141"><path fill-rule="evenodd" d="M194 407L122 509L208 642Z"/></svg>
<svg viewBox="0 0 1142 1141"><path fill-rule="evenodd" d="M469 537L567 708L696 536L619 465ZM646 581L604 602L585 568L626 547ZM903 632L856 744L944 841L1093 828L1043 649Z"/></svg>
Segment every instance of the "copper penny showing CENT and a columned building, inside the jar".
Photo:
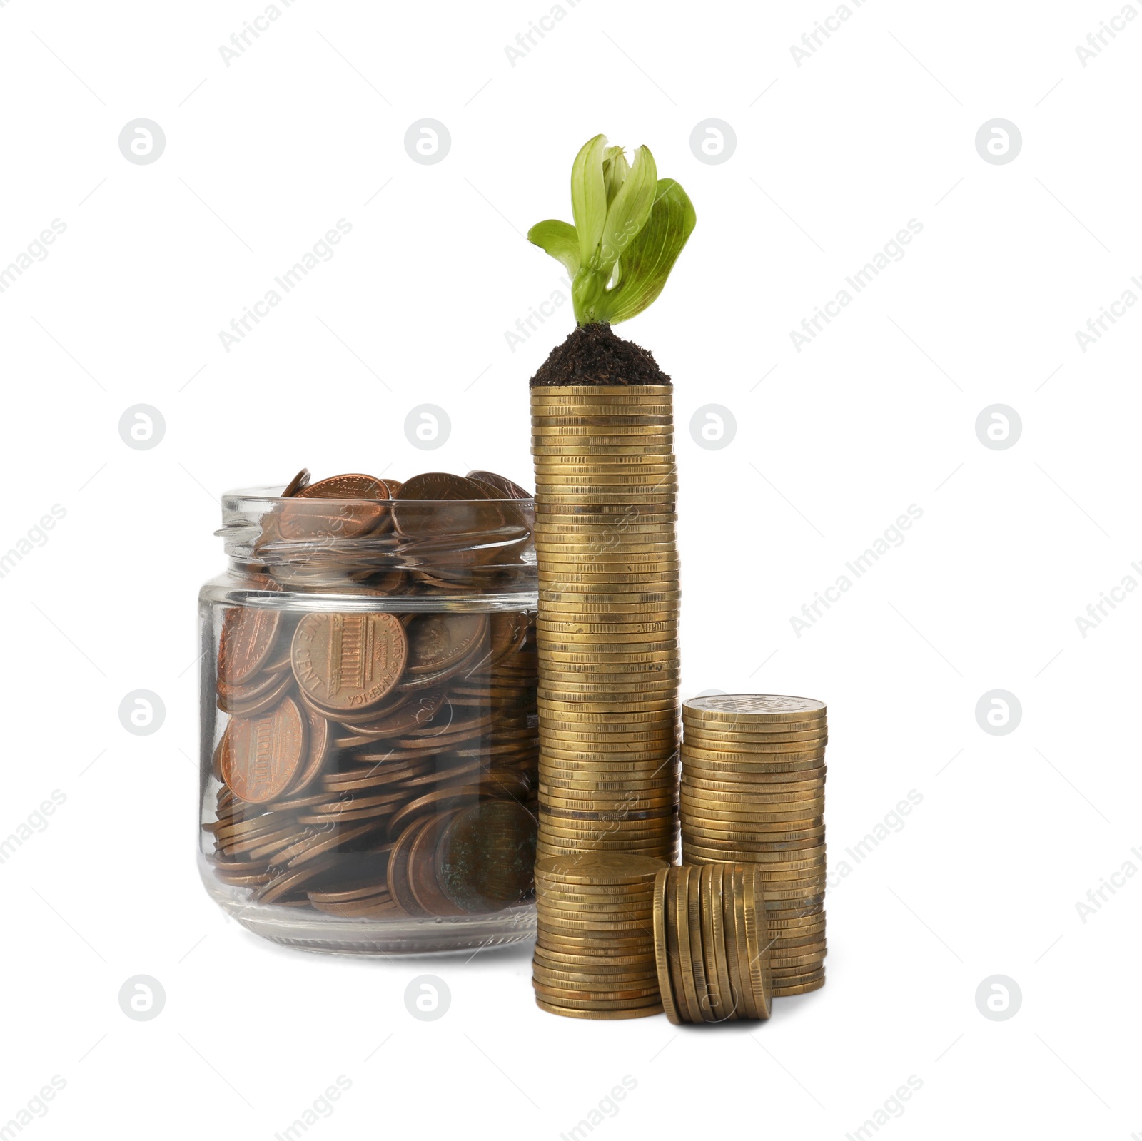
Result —
<svg viewBox="0 0 1142 1141"><path fill-rule="evenodd" d="M306 614L293 634L291 658L311 701L333 710L364 709L400 681L408 638L393 614Z"/></svg>

